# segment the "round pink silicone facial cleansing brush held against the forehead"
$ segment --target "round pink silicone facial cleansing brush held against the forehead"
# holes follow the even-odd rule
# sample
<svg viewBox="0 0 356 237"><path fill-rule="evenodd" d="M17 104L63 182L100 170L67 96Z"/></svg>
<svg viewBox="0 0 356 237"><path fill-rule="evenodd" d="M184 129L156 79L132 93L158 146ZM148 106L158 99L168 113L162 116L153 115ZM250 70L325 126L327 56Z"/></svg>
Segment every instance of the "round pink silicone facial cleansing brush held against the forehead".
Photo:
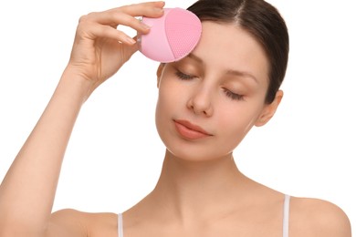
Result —
<svg viewBox="0 0 356 237"><path fill-rule="evenodd" d="M169 63L191 53L202 35L202 23L194 13L182 8L164 8L159 18L142 17L150 33L139 35L141 53L152 60Z"/></svg>

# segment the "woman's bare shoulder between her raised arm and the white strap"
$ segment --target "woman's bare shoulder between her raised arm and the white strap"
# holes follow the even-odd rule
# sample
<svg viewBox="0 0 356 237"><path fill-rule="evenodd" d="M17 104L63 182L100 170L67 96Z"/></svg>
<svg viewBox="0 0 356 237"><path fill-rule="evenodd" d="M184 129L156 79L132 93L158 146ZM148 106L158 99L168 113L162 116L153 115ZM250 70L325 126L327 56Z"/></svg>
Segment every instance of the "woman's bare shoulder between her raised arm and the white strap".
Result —
<svg viewBox="0 0 356 237"><path fill-rule="evenodd" d="M87 237L117 235L118 215L102 212L90 213L73 209L56 211L51 216L48 237Z"/></svg>

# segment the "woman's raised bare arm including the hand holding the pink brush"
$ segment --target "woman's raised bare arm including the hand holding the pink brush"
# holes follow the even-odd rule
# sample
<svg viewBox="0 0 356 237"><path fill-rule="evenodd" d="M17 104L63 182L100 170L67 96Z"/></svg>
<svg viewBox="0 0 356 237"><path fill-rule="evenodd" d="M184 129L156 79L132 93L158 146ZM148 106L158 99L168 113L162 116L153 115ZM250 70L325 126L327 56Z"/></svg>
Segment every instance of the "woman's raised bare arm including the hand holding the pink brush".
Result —
<svg viewBox="0 0 356 237"><path fill-rule="evenodd" d="M79 20L68 67L0 186L0 237L46 236L61 163L83 103L137 51L116 29L149 29L134 16L162 15L162 2L126 5Z"/></svg>

